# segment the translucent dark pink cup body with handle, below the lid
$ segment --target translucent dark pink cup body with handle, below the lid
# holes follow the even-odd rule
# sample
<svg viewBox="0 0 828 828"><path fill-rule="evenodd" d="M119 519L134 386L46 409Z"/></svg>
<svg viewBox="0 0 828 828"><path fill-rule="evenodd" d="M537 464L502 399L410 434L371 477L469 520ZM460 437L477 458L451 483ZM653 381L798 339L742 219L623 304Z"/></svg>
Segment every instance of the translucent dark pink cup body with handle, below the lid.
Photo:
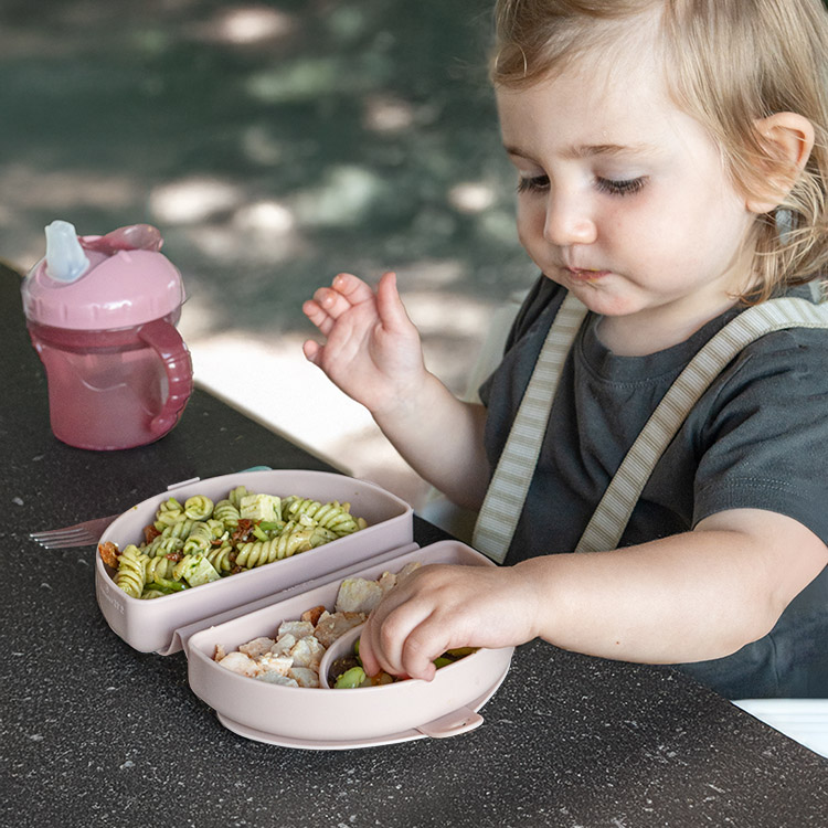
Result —
<svg viewBox="0 0 828 828"><path fill-rule="evenodd" d="M152 443L178 422L192 392L192 363L178 311L117 330L72 330L29 321L46 370L52 432L95 450Z"/></svg>

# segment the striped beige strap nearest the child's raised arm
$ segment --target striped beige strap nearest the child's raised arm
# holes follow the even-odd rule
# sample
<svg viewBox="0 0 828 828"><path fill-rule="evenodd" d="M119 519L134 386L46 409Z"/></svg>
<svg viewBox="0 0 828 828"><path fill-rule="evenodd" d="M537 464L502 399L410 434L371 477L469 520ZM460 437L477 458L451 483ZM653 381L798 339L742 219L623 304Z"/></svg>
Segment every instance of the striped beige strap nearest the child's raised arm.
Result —
<svg viewBox="0 0 828 828"><path fill-rule="evenodd" d="M473 544L502 563L532 481L561 369L586 316L571 293L552 322L477 517Z"/></svg>

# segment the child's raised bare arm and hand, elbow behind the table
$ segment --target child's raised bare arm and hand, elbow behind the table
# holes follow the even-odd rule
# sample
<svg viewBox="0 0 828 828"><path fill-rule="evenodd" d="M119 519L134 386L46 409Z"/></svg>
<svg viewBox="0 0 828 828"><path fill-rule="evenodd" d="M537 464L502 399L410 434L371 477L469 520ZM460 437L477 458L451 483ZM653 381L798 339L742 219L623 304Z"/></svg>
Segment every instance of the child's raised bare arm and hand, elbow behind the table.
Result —
<svg viewBox="0 0 828 828"><path fill-rule="evenodd" d="M423 363L420 335L386 273L376 291L350 274L302 310L325 336L305 355L362 403L417 474L461 506L482 501L489 468L481 405L460 402Z"/></svg>

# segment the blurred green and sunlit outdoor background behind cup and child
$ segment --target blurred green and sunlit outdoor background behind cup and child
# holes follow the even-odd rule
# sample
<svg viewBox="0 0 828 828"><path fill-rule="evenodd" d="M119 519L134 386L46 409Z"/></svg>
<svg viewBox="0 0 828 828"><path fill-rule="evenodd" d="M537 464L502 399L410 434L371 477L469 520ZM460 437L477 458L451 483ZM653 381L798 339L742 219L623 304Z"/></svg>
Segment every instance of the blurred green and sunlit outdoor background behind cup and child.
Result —
<svg viewBox="0 0 828 828"><path fill-rule="evenodd" d="M422 481L305 361L301 302L395 269L428 368L466 392L533 278L490 32L490 0L0 0L0 258L26 272L54 219L155 224L198 383L417 506Z"/></svg>

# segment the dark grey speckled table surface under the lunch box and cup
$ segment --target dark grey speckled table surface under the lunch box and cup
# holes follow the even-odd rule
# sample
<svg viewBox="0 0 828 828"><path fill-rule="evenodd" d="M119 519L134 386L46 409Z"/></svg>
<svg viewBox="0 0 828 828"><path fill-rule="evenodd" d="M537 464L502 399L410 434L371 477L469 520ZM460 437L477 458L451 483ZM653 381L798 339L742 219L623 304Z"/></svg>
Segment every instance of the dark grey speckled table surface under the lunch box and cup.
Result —
<svg viewBox="0 0 828 828"><path fill-rule="evenodd" d="M3 392L0 825L826 826L828 762L666 668L534 641L477 730L296 751L225 730L182 654L140 654L100 615L93 548L28 539L168 484L325 463L197 391L155 445L57 442L45 376L0 268ZM415 521L415 539L444 537Z"/></svg>

